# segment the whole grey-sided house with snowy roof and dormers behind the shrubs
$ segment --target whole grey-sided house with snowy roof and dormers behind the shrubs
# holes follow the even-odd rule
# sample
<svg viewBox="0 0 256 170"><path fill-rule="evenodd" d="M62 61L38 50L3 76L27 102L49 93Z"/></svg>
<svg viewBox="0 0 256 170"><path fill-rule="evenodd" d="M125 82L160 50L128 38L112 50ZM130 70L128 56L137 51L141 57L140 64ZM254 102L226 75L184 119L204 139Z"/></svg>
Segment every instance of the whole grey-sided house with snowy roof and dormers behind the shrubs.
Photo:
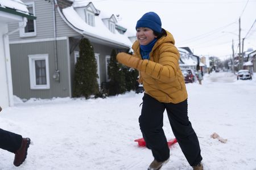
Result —
<svg viewBox="0 0 256 170"><path fill-rule="evenodd" d="M36 20L9 36L13 94L21 99L72 97L79 42L88 39L97 61L98 84L108 82L113 49L124 52L131 41L114 15L92 2L23 0ZM108 12L108 11L106 11ZM10 23L9 30L18 27Z"/></svg>

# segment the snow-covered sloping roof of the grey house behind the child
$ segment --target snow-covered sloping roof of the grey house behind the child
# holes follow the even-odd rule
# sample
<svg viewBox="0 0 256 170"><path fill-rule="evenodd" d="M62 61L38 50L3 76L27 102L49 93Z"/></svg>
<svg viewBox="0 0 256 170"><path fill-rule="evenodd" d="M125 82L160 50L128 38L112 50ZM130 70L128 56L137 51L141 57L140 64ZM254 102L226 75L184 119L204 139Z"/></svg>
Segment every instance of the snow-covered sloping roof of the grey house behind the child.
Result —
<svg viewBox="0 0 256 170"><path fill-rule="evenodd" d="M82 5L85 4L82 3ZM76 5L76 7L77 6L78 5ZM125 46L126 48L130 48L132 45L127 35L122 35L118 31L113 33L106 27L102 19L108 18L109 16L104 16L102 14L95 16L95 26L92 27L80 17L73 6L63 8L63 15L65 16L65 19L67 19L67 22L73 25L75 31L81 33L82 35L89 35L95 37L96 39L110 41L114 44Z"/></svg>

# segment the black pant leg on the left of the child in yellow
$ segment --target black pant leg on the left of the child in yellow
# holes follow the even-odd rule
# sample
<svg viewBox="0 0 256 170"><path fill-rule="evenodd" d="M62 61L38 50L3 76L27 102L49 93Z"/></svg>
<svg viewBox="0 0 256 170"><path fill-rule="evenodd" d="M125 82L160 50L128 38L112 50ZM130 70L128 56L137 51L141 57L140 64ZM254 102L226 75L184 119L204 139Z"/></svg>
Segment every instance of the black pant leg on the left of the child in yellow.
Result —
<svg viewBox="0 0 256 170"><path fill-rule="evenodd" d="M144 94L139 126L147 147L151 149L158 162L163 162L170 157L170 150L162 129L164 109L163 103Z"/></svg>

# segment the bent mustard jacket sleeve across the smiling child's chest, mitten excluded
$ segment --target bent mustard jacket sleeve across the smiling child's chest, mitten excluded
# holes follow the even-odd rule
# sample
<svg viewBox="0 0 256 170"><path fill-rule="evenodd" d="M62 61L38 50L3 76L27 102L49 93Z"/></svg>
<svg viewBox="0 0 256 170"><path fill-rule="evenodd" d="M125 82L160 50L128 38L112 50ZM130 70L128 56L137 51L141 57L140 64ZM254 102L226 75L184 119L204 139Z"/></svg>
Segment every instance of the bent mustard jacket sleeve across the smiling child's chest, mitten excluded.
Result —
<svg viewBox="0 0 256 170"><path fill-rule="evenodd" d="M160 82L170 83L176 80L177 68L179 67L179 52L175 46L163 46L159 50L159 62L144 59L138 70L147 73Z"/></svg>

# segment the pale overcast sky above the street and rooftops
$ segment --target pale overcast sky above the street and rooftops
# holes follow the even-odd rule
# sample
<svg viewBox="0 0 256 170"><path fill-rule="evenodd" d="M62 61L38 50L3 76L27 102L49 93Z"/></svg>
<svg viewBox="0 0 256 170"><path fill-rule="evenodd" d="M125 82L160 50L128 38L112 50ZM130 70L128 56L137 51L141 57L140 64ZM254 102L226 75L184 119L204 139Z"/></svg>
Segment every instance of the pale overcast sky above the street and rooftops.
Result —
<svg viewBox="0 0 256 170"><path fill-rule="evenodd" d="M85 0L76 0L85 1ZM174 35L176 46L189 46L194 54L217 56L222 59L239 53L238 28L241 18L244 50L256 50L256 0L92 0L101 11L119 14L121 23L135 34L135 25L141 16L156 12L162 19L162 28ZM253 26L253 27L252 27ZM251 28L251 29L250 29ZM249 32L250 30L250 32Z"/></svg>

